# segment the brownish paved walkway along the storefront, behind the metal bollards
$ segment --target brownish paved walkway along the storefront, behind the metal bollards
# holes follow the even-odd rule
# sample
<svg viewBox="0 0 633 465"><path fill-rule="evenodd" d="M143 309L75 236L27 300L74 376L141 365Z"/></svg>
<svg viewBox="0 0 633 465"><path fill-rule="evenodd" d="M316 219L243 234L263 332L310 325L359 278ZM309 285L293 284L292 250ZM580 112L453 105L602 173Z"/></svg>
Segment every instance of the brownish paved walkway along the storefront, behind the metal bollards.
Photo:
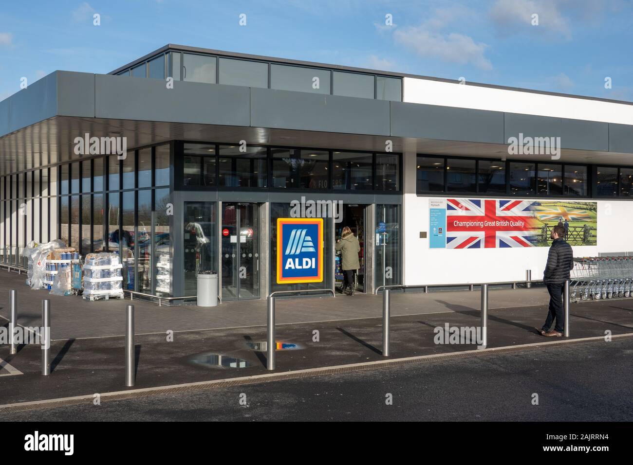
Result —
<svg viewBox="0 0 633 465"><path fill-rule="evenodd" d="M25 285L25 275L0 271L0 323L9 318L9 290L17 290L18 323L40 326L42 300L51 302L51 337L54 340L119 336L125 334L125 306L133 303L137 333L158 333L240 328L266 324L266 301L224 302L217 307L159 307L152 302L84 301L81 297L50 295L46 290L32 290ZM545 288L491 289L489 308L542 305L549 301ZM479 310L480 292L457 290L392 292L391 314L444 313ZM356 294L354 297L302 297L277 299L277 324L310 321L373 318L382 315L382 297Z"/></svg>

